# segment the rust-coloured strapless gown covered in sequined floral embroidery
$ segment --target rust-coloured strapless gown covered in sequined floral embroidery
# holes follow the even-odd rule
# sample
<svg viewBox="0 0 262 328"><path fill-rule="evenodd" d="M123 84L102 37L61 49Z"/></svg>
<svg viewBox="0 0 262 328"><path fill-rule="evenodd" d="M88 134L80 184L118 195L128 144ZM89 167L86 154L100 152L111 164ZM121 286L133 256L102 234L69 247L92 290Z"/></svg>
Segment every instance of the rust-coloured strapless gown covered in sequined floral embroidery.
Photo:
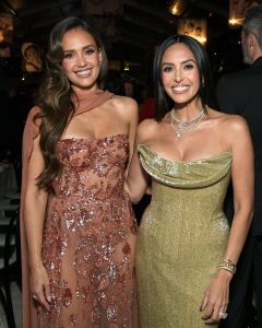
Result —
<svg viewBox="0 0 262 328"><path fill-rule="evenodd" d="M64 139L49 198L43 259L51 311L41 328L136 327L133 270L136 223L123 191L128 137Z"/></svg>

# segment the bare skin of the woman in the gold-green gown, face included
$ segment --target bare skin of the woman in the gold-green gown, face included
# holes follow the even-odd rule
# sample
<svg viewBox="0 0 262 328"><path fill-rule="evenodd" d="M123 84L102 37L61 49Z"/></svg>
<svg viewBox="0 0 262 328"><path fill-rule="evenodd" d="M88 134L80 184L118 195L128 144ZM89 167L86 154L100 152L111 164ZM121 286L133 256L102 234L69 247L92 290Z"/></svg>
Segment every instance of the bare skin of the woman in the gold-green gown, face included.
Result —
<svg viewBox="0 0 262 328"><path fill-rule="evenodd" d="M163 55L160 70L163 86L175 102L176 117L192 119L203 108L203 104L199 97L200 77L195 58L190 48L181 43L171 45ZM250 226L253 206L253 151L246 121L240 116L209 108L198 128L176 140L170 113L167 113L159 124L154 119L140 124L135 150L138 144L145 144L170 161L188 162L227 152L233 154L235 218L224 258L237 263ZM147 183L148 177L142 169L135 151L126 186L132 201L141 199ZM230 272L218 270L206 286L203 298L200 300L200 311L205 324L218 321L219 312L226 312L231 278Z"/></svg>

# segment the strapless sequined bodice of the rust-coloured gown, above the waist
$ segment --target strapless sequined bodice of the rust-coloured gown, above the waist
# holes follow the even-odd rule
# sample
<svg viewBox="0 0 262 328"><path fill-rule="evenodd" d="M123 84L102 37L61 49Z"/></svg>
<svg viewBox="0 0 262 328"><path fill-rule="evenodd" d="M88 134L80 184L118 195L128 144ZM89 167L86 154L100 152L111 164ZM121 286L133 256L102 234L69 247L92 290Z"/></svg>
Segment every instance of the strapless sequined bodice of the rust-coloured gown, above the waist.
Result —
<svg viewBox="0 0 262 328"><path fill-rule="evenodd" d="M86 192L107 197L123 189L129 155L126 134L100 139L63 139L56 149L61 169L53 180L57 197L78 197ZM99 191L99 192L98 192Z"/></svg>

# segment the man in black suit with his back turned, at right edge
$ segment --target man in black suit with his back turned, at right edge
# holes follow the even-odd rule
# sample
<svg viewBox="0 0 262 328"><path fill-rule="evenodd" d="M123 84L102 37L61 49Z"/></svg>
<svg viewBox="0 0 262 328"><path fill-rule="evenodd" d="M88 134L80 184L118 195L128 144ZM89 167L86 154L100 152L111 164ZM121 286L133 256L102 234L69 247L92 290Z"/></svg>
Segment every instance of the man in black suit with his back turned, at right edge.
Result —
<svg viewBox="0 0 262 328"><path fill-rule="evenodd" d="M222 77L217 98L222 112L241 115L248 122L254 148L254 212L237 274L231 283L228 318L222 327L262 327L262 5L246 13L241 31L243 62L249 67ZM226 199L231 224L234 197ZM252 301L255 298L257 314ZM257 317L255 324L253 317ZM258 325L258 326L257 326Z"/></svg>

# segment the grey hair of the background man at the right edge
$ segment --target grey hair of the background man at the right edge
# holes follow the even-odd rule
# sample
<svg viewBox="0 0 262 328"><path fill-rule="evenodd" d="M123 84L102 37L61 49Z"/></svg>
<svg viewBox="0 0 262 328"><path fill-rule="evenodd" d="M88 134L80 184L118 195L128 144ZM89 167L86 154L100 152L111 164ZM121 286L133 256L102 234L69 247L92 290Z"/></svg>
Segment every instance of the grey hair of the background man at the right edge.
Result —
<svg viewBox="0 0 262 328"><path fill-rule="evenodd" d="M246 35L250 33L254 34L258 44L262 48L262 4L247 10L242 32Z"/></svg>

